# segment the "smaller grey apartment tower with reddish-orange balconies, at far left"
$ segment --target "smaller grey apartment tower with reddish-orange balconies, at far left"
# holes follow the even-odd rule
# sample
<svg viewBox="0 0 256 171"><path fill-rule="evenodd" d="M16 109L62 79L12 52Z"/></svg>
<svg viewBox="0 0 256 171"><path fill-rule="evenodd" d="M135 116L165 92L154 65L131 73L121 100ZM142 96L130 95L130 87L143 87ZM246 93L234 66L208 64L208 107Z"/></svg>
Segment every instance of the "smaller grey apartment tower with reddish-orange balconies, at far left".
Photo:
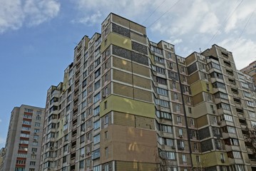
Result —
<svg viewBox="0 0 256 171"><path fill-rule="evenodd" d="M39 170L44 108L21 105L11 111L3 170Z"/></svg>

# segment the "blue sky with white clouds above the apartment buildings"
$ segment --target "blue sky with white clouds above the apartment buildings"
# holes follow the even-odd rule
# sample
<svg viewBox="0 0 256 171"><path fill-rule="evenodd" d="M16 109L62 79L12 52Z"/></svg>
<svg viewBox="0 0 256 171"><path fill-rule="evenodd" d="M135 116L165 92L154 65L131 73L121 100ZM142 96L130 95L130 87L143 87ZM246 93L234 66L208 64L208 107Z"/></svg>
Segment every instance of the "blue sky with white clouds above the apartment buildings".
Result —
<svg viewBox="0 0 256 171"><path fill-rule="evenodd" d="M213 43L233 52L237 69L256 57L255 0L0 0L0 147L11 110L44 107L46 90L63 80L73 48L101 32L110 12L143 24L151 41L188 56Z"/></svg>

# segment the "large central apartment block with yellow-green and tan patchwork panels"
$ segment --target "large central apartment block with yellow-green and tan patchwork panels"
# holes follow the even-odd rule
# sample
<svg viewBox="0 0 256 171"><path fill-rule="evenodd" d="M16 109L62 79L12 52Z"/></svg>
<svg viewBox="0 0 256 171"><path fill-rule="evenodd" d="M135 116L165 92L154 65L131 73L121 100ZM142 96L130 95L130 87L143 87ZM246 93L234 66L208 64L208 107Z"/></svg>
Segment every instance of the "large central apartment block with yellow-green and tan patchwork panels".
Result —
<svg viewBox="0 0 256 171"><path fill-rule="evenodd" d="M110 14L48 89L40 170L255 170L252 90L225 48L183 58Z"/></svg>

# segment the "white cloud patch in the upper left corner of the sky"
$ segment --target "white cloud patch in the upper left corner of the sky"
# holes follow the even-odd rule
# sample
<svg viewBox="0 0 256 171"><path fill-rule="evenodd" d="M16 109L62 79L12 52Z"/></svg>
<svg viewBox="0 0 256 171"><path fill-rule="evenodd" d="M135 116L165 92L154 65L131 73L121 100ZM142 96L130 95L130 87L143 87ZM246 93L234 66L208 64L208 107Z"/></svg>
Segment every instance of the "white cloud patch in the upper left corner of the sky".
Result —
<svg viewBox="0 0 256 171"><path fill-rule="evenodd" d="M0 0L0 33L24 24L37 26L53 19L60 11L57 0Z"/></svg>

